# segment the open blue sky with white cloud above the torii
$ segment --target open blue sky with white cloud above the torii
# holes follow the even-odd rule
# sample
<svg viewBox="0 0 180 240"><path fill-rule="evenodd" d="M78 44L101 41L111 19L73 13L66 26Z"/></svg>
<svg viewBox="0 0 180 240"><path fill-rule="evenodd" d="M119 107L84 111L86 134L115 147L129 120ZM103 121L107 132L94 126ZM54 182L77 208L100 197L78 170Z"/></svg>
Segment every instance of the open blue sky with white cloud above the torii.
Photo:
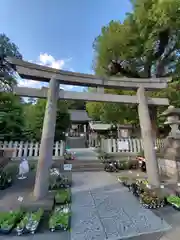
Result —
<svg viewBox="0 0 180 240"><path fill-rule="evenodd" d="M131 11L128 0L0 0L0 32L24 59L91 73L92 43L111 20Z"/></svg>

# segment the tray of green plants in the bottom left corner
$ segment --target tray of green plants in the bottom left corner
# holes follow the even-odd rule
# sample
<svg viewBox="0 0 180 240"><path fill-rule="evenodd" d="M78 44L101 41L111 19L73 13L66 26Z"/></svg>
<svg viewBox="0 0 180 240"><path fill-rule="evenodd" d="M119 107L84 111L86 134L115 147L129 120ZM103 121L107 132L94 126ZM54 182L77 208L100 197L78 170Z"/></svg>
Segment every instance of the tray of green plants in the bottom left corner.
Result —
<svg viewBox="0 0 180 240"><path fill-rule="evenodd" d="M0 213L0 232L8 234L23 216L20 210Z"/></svg>

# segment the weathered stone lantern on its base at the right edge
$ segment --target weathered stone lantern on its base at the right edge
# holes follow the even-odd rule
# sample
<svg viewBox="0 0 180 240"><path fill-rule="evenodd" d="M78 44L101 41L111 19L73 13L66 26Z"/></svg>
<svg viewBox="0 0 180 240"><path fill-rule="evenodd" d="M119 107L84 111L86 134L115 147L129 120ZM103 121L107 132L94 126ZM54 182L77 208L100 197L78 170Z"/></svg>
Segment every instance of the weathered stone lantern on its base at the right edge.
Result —
<svg viewBox="0 0 180 240"><path fill-rule="evenodd" d="M169 161L168 167L175 169L178 186L180 185L180 108L169 106L168 109L162 113L162 116L167 117L165 125L169 125L171 131L166 138L165 147L163 149L163 157ZM170 164L171 163L171 164ZM172 172L173 174L173 172Z"/></svg>

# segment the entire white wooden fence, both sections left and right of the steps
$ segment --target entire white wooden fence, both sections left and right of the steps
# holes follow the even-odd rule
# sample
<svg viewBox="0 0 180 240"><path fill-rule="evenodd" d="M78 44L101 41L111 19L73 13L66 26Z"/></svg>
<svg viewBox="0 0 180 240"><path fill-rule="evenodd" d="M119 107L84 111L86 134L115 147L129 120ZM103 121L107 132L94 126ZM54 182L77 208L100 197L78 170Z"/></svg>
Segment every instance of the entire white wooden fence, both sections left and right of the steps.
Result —
<svg viewBox="0 0 180 240"><path fill-rule="evenodd" d="M126 142L127 149L119 150L118 142ZM158 148L163 147L163 139L156 140L156 146ZM40 143L38 142L1 142L0 148L12 148L13 158L37 158L39 156ZM65 149L65 143L63 141L55 142L53 147L53 157L58 158L63 156ZM111 152L130 152L138 153L143 149L143 143L141 139L101 139L101 150L107 153Z"/></svg>

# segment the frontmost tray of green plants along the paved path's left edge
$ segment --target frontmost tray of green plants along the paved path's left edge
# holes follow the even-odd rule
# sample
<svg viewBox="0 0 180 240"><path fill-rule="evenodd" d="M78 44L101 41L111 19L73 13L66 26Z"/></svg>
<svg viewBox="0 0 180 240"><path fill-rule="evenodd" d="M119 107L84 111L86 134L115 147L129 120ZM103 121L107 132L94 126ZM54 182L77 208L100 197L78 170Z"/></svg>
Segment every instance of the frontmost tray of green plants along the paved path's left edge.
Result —
<svg viewBox="0 0 180 240"><path fill-rule="evenodd" d="M67 231L70 229L71 210L69 205L56 207L49 219L49 230Z"/></svg>

